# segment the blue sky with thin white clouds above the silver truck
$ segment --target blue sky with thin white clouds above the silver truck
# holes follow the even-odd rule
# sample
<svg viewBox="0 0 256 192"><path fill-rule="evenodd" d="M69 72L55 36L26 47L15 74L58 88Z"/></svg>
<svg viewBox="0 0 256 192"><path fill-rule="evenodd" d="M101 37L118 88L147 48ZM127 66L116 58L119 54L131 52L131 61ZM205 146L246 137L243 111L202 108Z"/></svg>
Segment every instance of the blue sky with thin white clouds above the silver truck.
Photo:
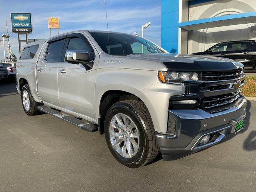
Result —
<svg viewBox="0 0 256 192"><path fill-rule="evenodd" d="M0 4L6 1L0 0ZM108 28L110 31L141 35L141 26L151 25L144 31L144 38L161 44L161 0L106 0ZM1 9L0 35L6 34L5 18L8 22L12 53L18 55L18 35L11 32L11 12L32 13L33 33L30 39L50 37L47 17L60 18L60 33L73 30L107 30L104 0L12 0ZM52 36L57 30L52 29ZM6 48L7 50L7 48ZM4 58L0 46L0 60Z"/></svg>

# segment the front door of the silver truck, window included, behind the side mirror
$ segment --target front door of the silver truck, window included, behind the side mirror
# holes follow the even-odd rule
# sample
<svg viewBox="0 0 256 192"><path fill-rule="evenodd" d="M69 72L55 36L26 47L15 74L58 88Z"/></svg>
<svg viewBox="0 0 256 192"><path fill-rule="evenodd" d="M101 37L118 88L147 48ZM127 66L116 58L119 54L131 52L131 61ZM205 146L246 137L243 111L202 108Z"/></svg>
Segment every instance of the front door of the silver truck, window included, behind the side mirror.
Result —
<svg viewBox="0 0 256 192"><path fill-rule="evenodd" d="M95 120L94 98L96 64L98 53L83 34L69 34L66 42L66 50L88 51L92 68L86 68L83 64L60 62L58 66L59 100L63 108Z"/></svg>

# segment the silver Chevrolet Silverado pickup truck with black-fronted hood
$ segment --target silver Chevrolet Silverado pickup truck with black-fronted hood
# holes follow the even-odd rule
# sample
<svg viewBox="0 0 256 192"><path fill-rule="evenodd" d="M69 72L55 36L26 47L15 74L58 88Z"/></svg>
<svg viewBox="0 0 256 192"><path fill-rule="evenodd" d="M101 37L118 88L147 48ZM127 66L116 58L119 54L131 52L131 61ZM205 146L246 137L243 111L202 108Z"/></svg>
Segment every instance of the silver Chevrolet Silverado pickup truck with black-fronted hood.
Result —
<svg viewBox="0 0 256 192"><path fill-rule="evenodd" d="M80 30L26 44L16 64L28 115L42 111L105 134L118 162L173 160L244 126L244 66L169 54L130 34Z"/></svg>

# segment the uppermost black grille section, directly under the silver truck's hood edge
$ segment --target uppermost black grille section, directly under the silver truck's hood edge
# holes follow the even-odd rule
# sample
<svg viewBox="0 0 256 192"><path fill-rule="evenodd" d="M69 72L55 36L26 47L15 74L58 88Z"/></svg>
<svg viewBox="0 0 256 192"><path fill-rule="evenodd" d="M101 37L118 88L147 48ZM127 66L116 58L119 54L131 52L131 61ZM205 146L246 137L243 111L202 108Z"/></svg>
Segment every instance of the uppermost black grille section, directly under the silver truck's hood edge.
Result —
<svg viewBox="0 0 256 192"><path fill-rule="evenodd" d="M218 81L236 79L243 75L242 69L233 71L202 72L203 81Z"/></svg>

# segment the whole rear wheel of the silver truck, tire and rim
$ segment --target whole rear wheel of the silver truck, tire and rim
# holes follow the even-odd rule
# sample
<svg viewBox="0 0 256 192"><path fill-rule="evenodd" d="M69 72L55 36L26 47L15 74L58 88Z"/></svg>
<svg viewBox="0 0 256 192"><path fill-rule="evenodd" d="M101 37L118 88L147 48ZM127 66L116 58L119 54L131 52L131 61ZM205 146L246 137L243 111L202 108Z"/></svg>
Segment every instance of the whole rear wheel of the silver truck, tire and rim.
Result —
<svg viewBox="0 0 256 192"><path fill-rule="evenodd" d="M42 105L42 103L38 103L34 100L28 84L24 85L21 89L21 102L24 112L30 116L37 115L39 112L37 106Z"/></svg>

